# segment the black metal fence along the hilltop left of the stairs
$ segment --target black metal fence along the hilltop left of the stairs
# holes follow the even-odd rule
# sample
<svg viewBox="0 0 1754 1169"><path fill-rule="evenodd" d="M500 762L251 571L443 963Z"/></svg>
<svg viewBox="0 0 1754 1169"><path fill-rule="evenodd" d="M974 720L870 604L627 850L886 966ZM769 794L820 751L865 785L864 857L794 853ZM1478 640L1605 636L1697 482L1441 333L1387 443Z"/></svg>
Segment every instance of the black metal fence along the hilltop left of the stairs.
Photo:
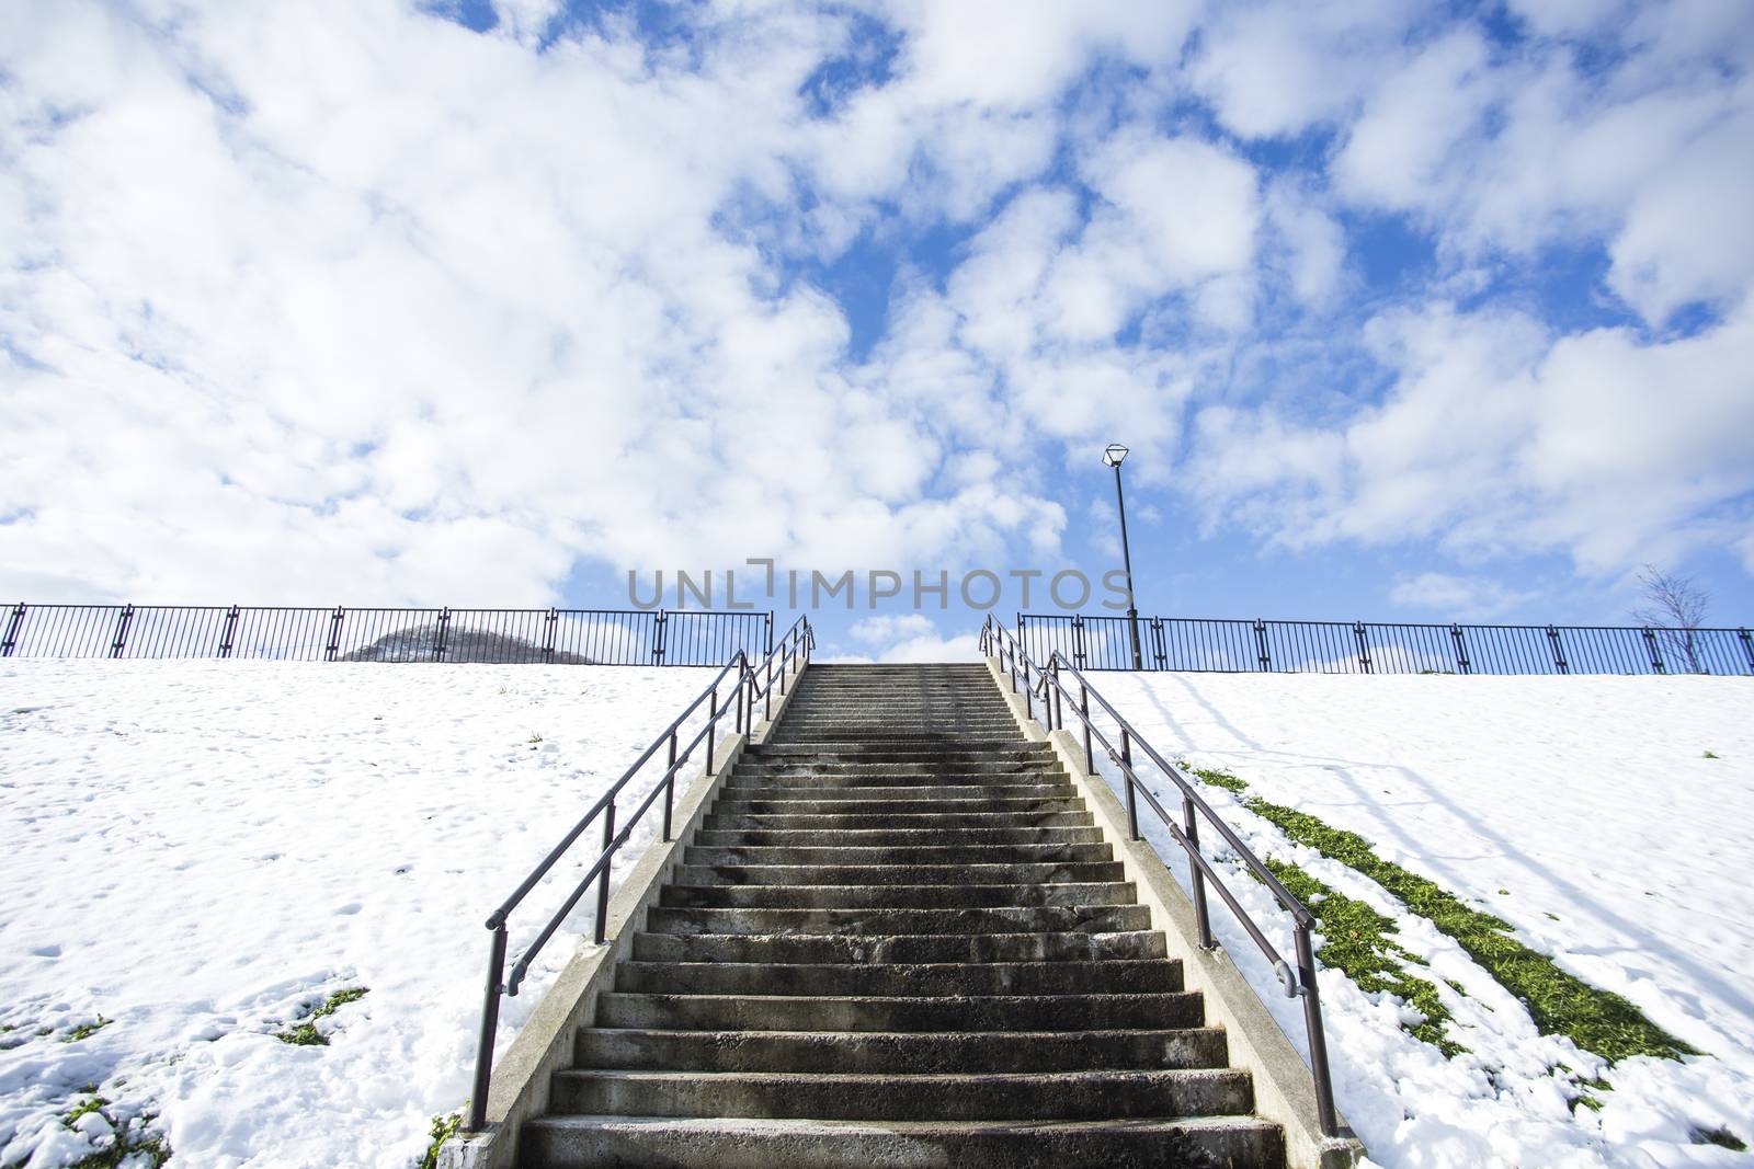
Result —
<svg viewBox="0 0 1754 1169"><path fill-rule="evenodd" d="M12 605L0 657L717 666L765 655L774 613L614 608Z"/></svg>

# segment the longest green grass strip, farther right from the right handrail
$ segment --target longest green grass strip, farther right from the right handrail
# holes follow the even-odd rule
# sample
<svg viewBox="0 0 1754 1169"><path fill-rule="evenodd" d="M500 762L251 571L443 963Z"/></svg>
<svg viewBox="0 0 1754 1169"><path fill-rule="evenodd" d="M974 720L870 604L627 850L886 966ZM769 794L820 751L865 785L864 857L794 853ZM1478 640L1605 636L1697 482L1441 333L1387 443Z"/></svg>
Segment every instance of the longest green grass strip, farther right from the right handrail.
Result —
<svg viewBox="0 0 1754 1169"><path fill-rule="evenodd" d="M1244 780L1228 773L1196 769L1194 775L1207 783L1212 783L1209 776L1217 775L1224 780L1219 787L1238 796L1247 789ZM1330 827L1307 811L1286 808L1259 796L1242 796L1242 804L1270 820L1289 840L1377 882L1412 913L1454 938L1468 957L1486 967L1501 987L1528 1008L1529 1018L1535 1020L1542 1034L1570 1036L1577 1046L1594 1052L1608 1062L1633 1055L1656 1055L1659 1059L1698 1055L1691 1046L1645 1018L1628 999L1591 987L1582 978L1559 969L1545 953L1524 946L1512 936L1515 931L1503 918L1482 913L1435 882L1384 861L1358 832ZM1310 906L1310 911L1317 911L1317 908Z"/></svg>

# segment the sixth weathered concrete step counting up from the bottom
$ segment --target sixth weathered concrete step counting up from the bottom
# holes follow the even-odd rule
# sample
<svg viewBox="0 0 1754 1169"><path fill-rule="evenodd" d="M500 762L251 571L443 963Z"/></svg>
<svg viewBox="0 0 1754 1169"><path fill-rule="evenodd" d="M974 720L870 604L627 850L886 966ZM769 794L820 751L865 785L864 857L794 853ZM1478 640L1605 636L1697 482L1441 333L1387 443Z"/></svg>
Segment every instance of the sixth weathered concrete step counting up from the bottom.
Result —
<svg viewBox="0 0 1754 1169"><path fill-rule="evenodd" d="M1016 934L651 934L633 936L644 962L1091 962L1161 959L1154 929Z"/></svg>

